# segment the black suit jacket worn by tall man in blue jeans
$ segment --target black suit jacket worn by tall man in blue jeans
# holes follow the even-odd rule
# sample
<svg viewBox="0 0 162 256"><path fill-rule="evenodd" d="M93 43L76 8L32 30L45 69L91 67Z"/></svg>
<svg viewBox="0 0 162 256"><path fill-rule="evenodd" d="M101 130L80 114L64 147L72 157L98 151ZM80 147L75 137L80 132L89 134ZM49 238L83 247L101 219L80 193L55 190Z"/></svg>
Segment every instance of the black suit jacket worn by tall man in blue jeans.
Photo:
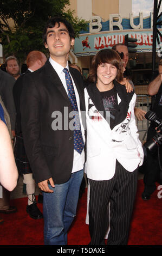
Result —
<svg viewBox="0 0 162 256"><path fill-rule="evenodd" d="M69 68L85 111L83 81L79 71ZM73 167L73 131L64 129L64 107L72 111L66 90L49 60L39 70L23 76L21 119L25 150L36 182L53 178L66 182ZM62 115L62 130L54 131L54 114ZM54 114L53 114L54 113ZM56 116L57 118L57 116ZM70 121L70 118L69 118Z"/></svg>

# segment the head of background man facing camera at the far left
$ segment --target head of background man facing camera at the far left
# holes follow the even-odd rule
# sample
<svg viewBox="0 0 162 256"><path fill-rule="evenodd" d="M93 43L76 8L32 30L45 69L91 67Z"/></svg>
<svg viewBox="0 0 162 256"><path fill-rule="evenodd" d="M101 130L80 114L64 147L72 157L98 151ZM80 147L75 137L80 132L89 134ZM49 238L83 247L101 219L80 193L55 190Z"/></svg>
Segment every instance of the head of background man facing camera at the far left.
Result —
<svg viewBox="0 0 162 256"><path fill-rule="evenodd" d="M5 68L11 76L17 80L20 77L20 66L18 65L18 60L14 56L9 56L5 59Z"/></svg>

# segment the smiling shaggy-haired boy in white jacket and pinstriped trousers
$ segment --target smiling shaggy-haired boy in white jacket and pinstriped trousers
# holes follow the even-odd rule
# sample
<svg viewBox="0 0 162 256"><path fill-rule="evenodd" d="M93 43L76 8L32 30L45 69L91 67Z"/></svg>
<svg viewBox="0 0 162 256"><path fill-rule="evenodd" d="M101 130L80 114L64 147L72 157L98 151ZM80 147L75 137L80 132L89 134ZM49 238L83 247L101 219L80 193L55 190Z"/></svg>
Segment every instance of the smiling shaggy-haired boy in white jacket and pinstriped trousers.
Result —
<svg viewBox="0 0 162 256"><path fill-rule="evenodd" d="M104 243L109 203L107 244L127 244L138 166L144 157L135 125L136 95L119 84L122 72L119 54L101 50L93 59L91 83L85 89L90 245Z"/></svg>

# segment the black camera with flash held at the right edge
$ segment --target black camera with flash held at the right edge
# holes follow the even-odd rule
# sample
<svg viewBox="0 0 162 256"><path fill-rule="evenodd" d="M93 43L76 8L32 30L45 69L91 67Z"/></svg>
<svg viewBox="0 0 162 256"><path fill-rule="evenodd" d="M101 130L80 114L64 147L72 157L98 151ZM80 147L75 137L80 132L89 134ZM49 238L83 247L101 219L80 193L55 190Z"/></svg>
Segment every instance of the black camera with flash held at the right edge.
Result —
<svg viewBox="0 0 162 256"><path fill-rule="evenodd" d="M160 130L160 132L157 132L156 136L144 144L145 148L147 148L151 154L154 154L157 152L157 147L162 144L162 120L157 118L157 115L152 111L148 111L145 114L145 118L154 123L155 127L157 127L157 131Z"/></svg>

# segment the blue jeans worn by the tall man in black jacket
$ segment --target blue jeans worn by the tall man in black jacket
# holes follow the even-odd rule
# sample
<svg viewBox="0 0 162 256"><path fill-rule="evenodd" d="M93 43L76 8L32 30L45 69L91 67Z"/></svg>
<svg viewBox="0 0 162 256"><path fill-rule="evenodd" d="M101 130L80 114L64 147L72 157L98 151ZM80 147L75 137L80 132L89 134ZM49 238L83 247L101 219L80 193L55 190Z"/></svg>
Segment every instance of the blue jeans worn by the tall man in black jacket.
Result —
<svg viewBox="0 0 162 256"><path fill-rule="evenodd" d="M67 231L76 215L83 170L72 173L63 184L43 192L44 245L67 245Z"/></svg>

